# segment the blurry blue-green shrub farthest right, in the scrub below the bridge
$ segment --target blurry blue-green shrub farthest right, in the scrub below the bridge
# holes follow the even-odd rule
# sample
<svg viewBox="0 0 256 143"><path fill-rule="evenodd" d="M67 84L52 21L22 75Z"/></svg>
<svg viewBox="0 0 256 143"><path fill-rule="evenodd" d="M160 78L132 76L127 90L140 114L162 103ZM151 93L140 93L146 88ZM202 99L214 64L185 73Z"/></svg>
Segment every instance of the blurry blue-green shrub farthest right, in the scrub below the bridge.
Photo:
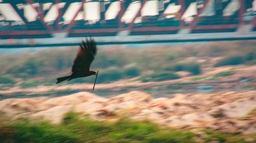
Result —
<svg viewBox="0 0 256 143"><path fill-rule="evenodd" d="M220 60L215 66L240 65L244 64L244 57L241 55L232 55Z"/></svg>

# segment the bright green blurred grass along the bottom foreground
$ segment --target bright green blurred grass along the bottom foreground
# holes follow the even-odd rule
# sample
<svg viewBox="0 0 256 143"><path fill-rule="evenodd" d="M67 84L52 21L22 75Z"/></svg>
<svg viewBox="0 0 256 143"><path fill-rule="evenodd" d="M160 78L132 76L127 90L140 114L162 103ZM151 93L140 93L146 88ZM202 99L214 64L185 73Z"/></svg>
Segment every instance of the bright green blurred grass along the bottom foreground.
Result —
<svg viewBox="0 0 256 143"><path fill-rule="evenodd" d="M247 142L239 132L220 133L203 131L196 136L188 129L173 129L147 120L134 121L121 118L115 122L95 121L77 112L69 112L60 124L36 119L18 119L0 123L1 142L138 142L138 143L193 143L197 142Z"/></svg>

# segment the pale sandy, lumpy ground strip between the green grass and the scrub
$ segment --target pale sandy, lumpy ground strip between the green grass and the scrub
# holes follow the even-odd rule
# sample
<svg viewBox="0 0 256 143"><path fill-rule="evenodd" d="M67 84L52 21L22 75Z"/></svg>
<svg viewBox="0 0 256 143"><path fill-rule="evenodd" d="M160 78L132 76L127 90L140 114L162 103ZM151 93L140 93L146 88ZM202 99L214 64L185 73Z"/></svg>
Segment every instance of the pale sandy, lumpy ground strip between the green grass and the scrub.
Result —
<svg viewBox="0 0 256 143"><path fill-rule="evenodd" d="M175 94L153 98L133 91L111 98L79 92L56 98L37 97L0 101L0 112L12 119L44 117L59 123L65 113L81 112L98 120L128 116L178 128L205 128L222 132L256 132L256 91L216 94Z"/></svg>

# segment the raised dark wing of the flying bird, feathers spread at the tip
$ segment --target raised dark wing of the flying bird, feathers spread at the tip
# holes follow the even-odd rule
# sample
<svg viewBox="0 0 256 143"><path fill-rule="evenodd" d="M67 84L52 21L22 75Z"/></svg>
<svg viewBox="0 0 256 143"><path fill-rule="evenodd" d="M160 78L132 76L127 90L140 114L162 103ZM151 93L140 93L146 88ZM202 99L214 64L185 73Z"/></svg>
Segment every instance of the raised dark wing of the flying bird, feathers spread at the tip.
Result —
<svg viewBox="0 0 256 143"><path fill-rule="evenodd" d="M91 63L97 52L97 46L94 39L86 39L82 41L82 45L77 52L76 58L73 62L71 73L79 74L89 72Z"/></svg>

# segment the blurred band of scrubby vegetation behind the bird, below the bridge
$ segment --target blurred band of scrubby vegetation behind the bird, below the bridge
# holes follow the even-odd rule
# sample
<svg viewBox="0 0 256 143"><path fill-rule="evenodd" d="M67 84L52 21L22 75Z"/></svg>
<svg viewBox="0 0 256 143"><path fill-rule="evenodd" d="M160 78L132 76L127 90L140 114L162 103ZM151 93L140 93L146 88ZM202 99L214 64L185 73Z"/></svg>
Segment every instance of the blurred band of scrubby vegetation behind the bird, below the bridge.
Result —
<svg viewBox="0 0 256 143"><path fill-rule="evenodd" d="M225 45L225 46L223 46ZM26 83L22 87L33 87L39 84L51 85L55 78L69 74L70 67L77 52L77 47L40 50L23 55L1 55L1 75L8 75L8 82L13 78L21 78ZM206 57L221 57L217 63L207 61ZM192 59L192 60L191 60ZM198 62L204 59L204 62ZM14 62L15 61L15 62ZM255 41L246 42L210 42L205 44L189 44L165 46L157 48L101 48L91 65L94 71L99 70L99 83L109 83L123 78L141 76L146 71L176 72L188 71L194 75L202 72L202 68L225 65L256 64ZM114 72L114 73L113 73ZM58 75L56 77L56 75ZM171 75L172 76L172 75ZM54 77L54 79L53 79ZM1 78L1 76L0 76ZM34 79L36 78L36 79ZM29 80L28 80L29 79ZM172 77L168 78L172 79ZM209 77L208 79L216 79ZM1 83L6 81L2 81ZM193 79L194 80L194 79ZM74 79L67 83L94 81L94 77Z"/></svg>

